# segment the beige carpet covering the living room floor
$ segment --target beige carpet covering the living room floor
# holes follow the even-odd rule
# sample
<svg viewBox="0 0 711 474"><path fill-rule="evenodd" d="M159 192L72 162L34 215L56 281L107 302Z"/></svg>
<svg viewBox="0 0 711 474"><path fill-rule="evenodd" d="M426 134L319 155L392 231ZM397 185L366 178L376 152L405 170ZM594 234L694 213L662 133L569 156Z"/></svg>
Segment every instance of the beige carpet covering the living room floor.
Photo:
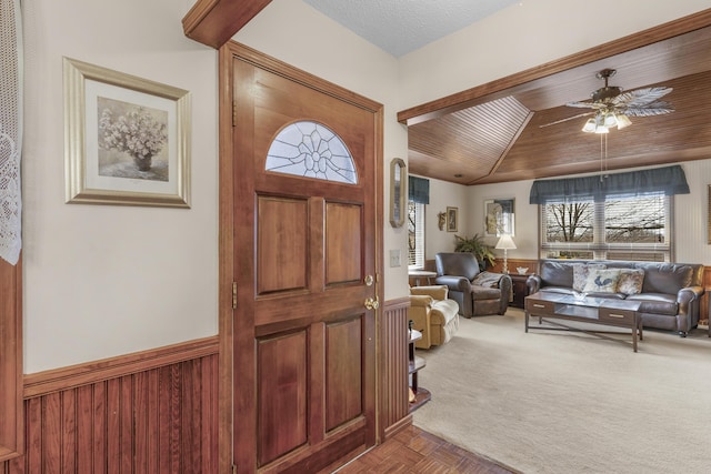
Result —
<svg viewBox="0 0 711 474"><path fill-rule="evenodd" d="M418 350L432 400L414 424L523 473L711 472L711 339L645 331L639 352L523 331L523 312L462 319Z"/></svg>

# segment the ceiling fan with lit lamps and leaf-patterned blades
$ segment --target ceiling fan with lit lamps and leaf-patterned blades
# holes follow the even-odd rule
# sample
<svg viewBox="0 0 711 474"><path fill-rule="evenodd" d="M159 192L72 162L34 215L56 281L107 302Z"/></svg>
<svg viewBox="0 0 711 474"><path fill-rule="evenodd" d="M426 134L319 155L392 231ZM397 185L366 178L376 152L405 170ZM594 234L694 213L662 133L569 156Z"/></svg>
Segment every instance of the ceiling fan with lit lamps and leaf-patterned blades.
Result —
<svg viewBox="0 0 711 474"><path fill-rule="evenodd" d="M567 119L540 125L540 128L554 125L581 117L594 115L582 128L587 133L608 133L611 128L623 129L632 124L630 117L650 117L671 113L674 108L662 97L672 91L672 88L642 88L623 92L622 88L608 85L608 80L617 73L614 69L603 69L595 77L604 80L604 87L592 92L591 101L568 102L565 105L581 109L593 109L591 112L579 113Z"/></svg>

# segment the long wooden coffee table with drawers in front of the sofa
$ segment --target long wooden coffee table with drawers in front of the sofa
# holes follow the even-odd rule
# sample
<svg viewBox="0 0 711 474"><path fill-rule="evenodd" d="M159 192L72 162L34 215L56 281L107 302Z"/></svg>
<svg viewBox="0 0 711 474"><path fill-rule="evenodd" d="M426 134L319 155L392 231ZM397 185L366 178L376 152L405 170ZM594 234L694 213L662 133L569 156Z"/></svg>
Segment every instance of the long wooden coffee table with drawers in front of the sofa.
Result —
<svg viewBox="0 0 711 474"><path fill-rule="evenodd" d="M605 326L627 327L632 331L632 350L637 352L637 340L642 341L642 319L639 301L608 297L577 297L571 294L538 292L525 296L525 332L529 330L575 331L598 337L619 341L603 335L605 331L583 330L551 320L568 320ZM531 325L531 316L538 316L538 324ZM545 325L543 325L545 323Z"/></svg>

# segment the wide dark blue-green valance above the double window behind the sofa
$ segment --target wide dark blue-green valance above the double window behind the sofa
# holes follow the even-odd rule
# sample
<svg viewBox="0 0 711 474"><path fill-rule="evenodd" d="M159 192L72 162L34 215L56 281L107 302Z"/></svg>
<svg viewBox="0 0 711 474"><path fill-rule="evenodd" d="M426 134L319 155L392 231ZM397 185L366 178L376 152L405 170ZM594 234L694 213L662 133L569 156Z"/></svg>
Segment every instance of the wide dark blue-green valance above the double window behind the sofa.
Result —
<svg viewBox="0 0 711 474"><path fill-rule="evenodd" d="M531 186L529 202L545 204L570 201L604 201L608 198L629 199L645 194L689 194L684 170L673 167L653 168L629 173L567 178L560 180L537 180Z"/></svg>

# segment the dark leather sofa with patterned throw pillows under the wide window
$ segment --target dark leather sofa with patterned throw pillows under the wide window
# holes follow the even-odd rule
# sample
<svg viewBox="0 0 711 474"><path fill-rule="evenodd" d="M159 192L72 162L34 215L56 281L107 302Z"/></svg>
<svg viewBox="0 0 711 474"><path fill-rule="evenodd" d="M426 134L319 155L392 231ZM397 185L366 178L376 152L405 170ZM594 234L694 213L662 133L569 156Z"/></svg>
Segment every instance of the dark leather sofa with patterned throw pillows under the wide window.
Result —
<svg viewBox="0 0 711 474"><path fill-rule="evenodd" d="M685 337L699 324L703 265L612 260L541 260L527 280L538 291L582 292L588 296L640 301L644 327L675 331Z"/></svg>

